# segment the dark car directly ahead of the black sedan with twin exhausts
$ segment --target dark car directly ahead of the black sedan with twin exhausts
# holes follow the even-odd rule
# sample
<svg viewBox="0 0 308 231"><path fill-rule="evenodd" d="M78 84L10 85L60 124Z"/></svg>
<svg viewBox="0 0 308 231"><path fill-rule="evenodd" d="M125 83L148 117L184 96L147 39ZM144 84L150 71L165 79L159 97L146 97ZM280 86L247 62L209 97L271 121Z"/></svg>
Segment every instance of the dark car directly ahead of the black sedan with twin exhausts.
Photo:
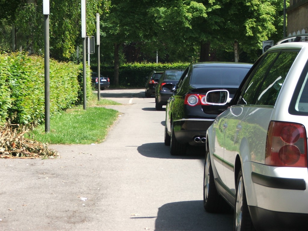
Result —
<svg viewBox="0 0 308 231"><path fill-rule="evenodd" d="M172 95L176 83L179 81L184 70L168 69L160 76L155 87L155 108L161 110L163 105L167 104L167 100Z"/></svg>

